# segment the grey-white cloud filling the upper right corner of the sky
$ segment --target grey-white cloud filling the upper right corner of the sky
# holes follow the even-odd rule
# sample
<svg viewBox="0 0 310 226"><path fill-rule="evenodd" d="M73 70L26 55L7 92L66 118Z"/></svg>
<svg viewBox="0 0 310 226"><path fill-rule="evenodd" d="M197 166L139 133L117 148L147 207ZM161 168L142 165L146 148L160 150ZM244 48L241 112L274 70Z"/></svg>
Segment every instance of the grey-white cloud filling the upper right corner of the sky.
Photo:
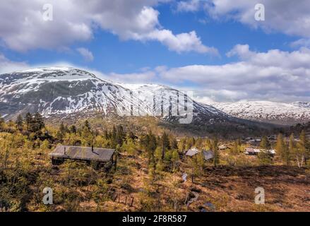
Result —
<svg viewBox="0 0 310 226"><path fill-rule="evenodd" d="M256 21L255 5L263 4L266 20ZM213 18L231 18L254 28L278 31L287 35L310 37L309 0L209 0L205 5Z"/></svg>

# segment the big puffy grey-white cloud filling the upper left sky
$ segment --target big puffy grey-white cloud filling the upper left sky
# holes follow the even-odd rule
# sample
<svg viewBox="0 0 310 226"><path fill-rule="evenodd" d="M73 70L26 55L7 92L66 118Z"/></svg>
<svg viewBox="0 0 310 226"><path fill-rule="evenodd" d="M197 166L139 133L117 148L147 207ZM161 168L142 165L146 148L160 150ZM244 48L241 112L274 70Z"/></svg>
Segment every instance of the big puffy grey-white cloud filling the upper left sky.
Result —
<svg viewBox="0 0 310 226"><path fill-rule="evenodd" d="M163 29L155 6L169 0L51 0L53 20L43 19L44 0L4 1L0 8L0 39L7 47L64 48L93 38L97 29L121 40L158 41L176 52L216 52L205 46L196 32L175 35Z"/></svg>

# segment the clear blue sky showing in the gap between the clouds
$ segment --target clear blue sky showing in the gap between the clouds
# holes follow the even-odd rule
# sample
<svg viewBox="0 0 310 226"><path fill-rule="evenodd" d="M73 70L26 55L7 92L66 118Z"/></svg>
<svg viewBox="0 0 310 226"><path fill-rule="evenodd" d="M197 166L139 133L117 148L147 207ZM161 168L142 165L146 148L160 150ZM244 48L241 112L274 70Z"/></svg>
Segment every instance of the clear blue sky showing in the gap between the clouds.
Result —
<svg viewBox="0 0 310 226"><path fill-rule="evenodd" d="M296 37L283 35L280 32L266 33L261 28L254 29L236 21L217 21L210 18L208 23L201 23L205 13L177 13L173 6L165 4L157 8L160 11L160 23L164 28L175 33L195 30L203 43L216 47L220 56L199 54L196 52L177 53L170 51L159 42L137 42L133 40L120 40L105 30L95 30L94 37L87 42L77 42L71 49L85 47L94 55L93 61L85 61L77 52L54 51L54 49L34 49L25 53L11 51L3 48L2 52L10 59L26 61L28 64L50 64L66 61L103 71L105 73L133 73L145 67L155 68L165 65L179 67L190 64L226 64L236 61L235 58L226 57L235 44L249 44L251 49L266 52L268 49L282 49L291 51L290 43Z"/></svg>

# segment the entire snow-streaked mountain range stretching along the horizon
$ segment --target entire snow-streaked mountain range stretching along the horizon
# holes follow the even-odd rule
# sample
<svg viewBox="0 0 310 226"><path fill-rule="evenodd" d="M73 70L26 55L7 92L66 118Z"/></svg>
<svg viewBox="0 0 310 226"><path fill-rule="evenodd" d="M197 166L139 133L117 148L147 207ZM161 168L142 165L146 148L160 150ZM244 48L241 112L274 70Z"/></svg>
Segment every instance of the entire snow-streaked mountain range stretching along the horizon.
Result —
<svg viewBox="0 0 310 226"><path fill-rule="evenodd" d="M309 102L236 102L211 106L198 103L165 85L114 83L88 71L66 67L0 75L0 115L6 120L15 119L18 114L26 112L40 112L47 118L80 118L99 113L105 116L155 115L165 121L176 121L189 117L184 109L189 109L191 105L192 124L198 126L222 125L225 128L229 125L243 128L259 125L249 120L294 124L310 119ZM172 111L177 115L171 114Z"/></svg>

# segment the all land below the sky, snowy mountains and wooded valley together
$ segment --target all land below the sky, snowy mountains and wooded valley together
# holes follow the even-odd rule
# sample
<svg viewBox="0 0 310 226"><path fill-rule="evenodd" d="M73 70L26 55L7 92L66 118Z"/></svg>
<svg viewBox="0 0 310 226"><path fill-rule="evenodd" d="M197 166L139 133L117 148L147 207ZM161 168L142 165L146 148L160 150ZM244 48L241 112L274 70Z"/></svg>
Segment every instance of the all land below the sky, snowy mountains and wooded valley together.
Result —
<svg viewBox="0 0 310 226"><path fill-rule="evenodd" d="M0 75L1 210L309 211L306 102L211 106L169 92L181 95L71 68ZM161 112L154 93L167 103ZM192 121L180 124L191 114L172 114L172 106L180 113L189 103ZM67 148L59 156L70 157L53 161L59 146ZM107 148L111 167L88 159ZM44 188L52 189L52 205L42 203Z"/></svg>

